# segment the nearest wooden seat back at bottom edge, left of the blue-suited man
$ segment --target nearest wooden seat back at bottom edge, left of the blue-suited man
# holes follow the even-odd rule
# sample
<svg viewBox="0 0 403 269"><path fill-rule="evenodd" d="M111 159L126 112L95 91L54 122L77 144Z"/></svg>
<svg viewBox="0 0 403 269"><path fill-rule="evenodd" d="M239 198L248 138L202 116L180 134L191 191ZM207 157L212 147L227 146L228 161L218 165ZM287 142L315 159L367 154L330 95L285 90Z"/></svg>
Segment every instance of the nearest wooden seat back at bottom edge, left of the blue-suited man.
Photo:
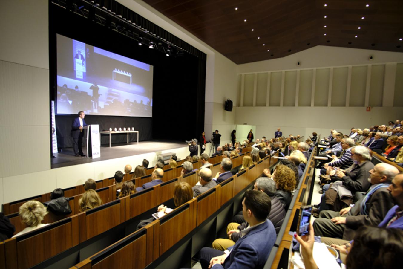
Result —
<svg viewBox="0 0 403 269"><path fill-rule="evenodd" d="M154 260L154 225L149 224L90 256L74 268L145 268Z"/></svg>

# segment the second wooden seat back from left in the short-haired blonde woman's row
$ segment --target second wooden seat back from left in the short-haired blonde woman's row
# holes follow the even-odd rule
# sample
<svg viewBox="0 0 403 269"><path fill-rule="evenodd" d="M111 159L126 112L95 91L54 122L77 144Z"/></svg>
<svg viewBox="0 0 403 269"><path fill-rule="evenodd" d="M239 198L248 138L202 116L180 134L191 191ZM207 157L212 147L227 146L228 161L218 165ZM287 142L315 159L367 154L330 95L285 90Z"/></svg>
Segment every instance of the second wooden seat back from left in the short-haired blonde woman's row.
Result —
<svg viewBox="0 0 403 269"><path fill-rule="evenodd" d="M125 221L125 199L116 199L79 213L80 243Z"/></svg>

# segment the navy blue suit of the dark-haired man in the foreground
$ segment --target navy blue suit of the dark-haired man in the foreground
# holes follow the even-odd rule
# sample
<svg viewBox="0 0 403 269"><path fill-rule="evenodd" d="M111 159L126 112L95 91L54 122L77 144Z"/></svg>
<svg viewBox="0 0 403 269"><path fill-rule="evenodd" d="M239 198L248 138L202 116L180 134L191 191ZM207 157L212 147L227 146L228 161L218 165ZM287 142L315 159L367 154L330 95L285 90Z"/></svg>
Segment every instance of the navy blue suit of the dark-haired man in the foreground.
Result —
<svg viewBox="0 0 403 269"><path fill-rule="evenodd" d="M276 241L276 230L273 223L266 220L264 223L253 227L239 238L224 263L216 264L212 268L263 268ZM220 250L202 248L200 250L200 263L202 268L207 268L210 259L224 254Z"/></svg>

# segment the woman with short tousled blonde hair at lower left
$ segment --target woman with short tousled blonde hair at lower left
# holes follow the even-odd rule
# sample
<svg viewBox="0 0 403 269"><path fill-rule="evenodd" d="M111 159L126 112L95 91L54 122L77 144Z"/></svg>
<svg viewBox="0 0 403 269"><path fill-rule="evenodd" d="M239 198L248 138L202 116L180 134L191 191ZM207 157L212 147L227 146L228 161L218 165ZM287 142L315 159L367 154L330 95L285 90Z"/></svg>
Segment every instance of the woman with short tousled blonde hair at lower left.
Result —
<svg viewBox="0 0 403 269"><path fill-rule="evenodd" d="M48 224L41 223L48 211L46 211L45 206L38 201L28 201L25 202L19 208L19 213L21 217L21 222L27 227L20 231L13 237L21 236L29 231L33 231L38 228L42 228Z"/></svg>

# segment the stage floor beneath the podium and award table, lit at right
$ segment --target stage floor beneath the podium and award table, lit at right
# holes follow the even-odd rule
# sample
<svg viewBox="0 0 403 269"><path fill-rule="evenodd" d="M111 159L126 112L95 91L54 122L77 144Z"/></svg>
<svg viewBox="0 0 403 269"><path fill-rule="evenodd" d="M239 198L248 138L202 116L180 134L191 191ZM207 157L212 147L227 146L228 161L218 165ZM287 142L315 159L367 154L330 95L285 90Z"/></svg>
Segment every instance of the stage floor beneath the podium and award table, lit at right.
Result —
<svg viewBox="0 0 403 269"><path fill-rule="evenodd" d="M114 158L127 157L132 155L169 150L173 148L182 148L187 146L185 142L179 141L167 141L167 140L149 140L149 141L140 141L139 144L137 142L130 142L129 144L120 143L120 144L112 144L112 147L109 147L109 144L101 145L101 157L92 159L87 157L75 157L73 148L63 148L59 151L59 153L53 154L55 158L50 158L51 168L59 168L71 165L81 165L83 163L92 163L97 161L104 161ZM87 147L83 147L83 152L87 155Z"/></svg>

